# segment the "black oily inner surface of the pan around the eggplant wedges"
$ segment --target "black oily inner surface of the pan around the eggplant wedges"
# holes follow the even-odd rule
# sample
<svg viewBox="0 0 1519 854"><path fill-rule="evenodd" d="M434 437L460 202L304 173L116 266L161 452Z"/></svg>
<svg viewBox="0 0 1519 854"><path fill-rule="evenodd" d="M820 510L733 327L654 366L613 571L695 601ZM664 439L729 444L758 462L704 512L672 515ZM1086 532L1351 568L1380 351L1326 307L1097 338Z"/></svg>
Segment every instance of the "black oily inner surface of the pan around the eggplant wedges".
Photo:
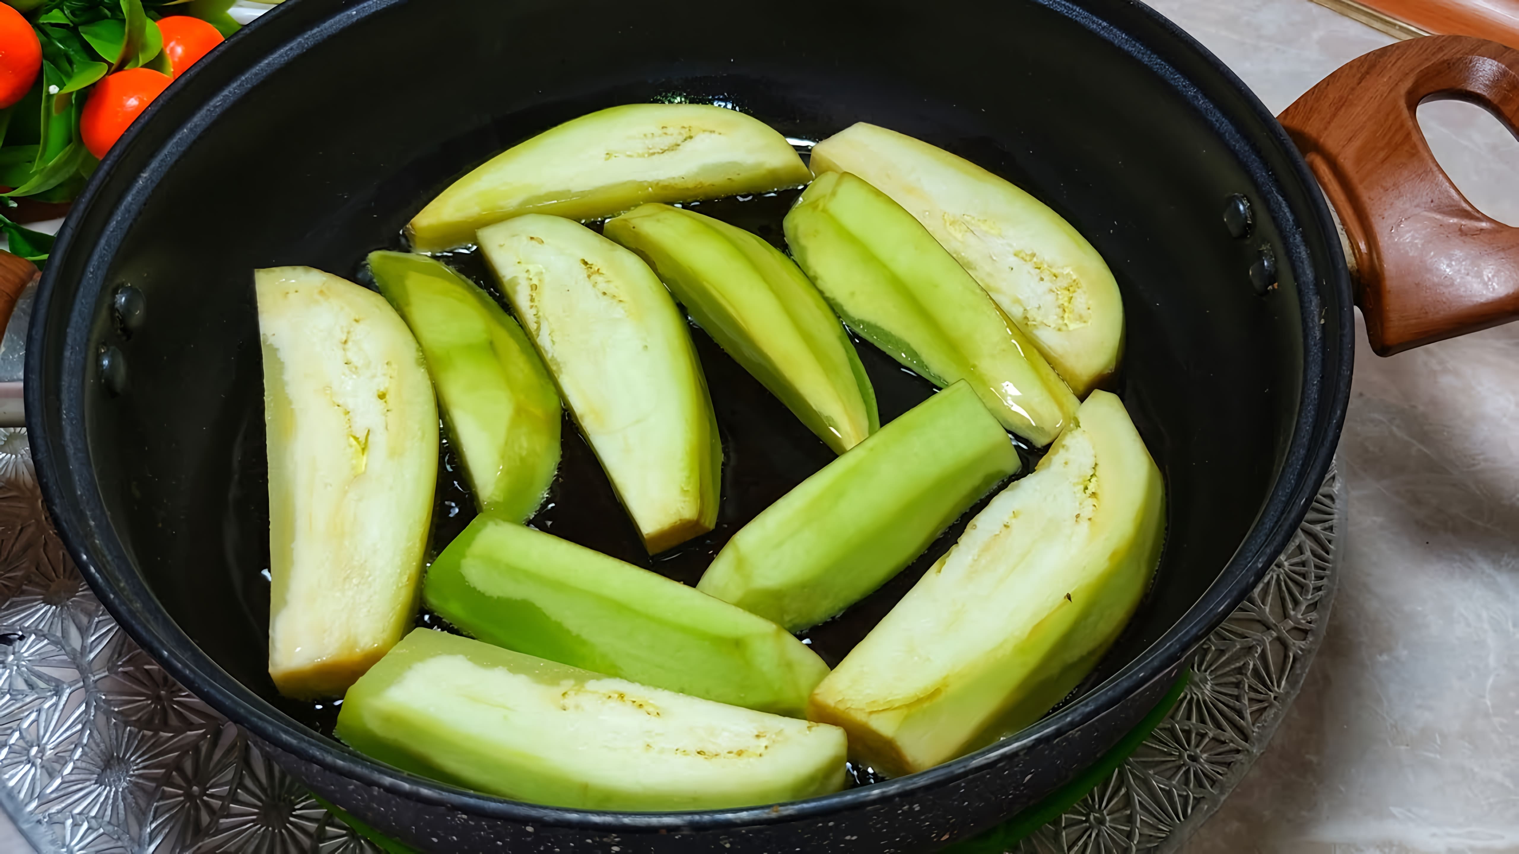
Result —
<svg viewBox="0 0 1519 854"><path fill-rule="evenodd" d="M495 152L592 109L685 99L750 112L799 140L854 122L928 140L1024 187L1107 258L1127 313L1113 387L1165 474L1168 539L1153 590L1089 684L1144 653L1250 532L1303 391L1300 295L1267 213L1276 190L1252 178L1244 143L1194 105L1195 93L1071 9L977 3L972 26L907 3L822 3L805 15L758 3L741 20L697 0L659 6L380 8L272 67L152 176L94 284L93 346L118 348L131 383L85 398L106 511L152 594L234 679L327 731L331 708L279 697L266 673L269 508L251 270L310 264L357 278L369 251L395 248L415 211ZM1255 210L1244 239L1223 219L1236 193ZM699 210L778 239L785 201ZM1247 275L1262 248L1284 258L1265 295ZM474 258L456 261L480 272ZM140 328L111 321L120 284L146 298ZM732 530L831 459L694 336L728 459L718 530L650 561L568 422L561 500L541 520L688 582ZM930 394L870 345L860 350L883 421ZM448 474L439 547L471 512ZM924 565L819 629L825 655L837 659Z"/></svg>

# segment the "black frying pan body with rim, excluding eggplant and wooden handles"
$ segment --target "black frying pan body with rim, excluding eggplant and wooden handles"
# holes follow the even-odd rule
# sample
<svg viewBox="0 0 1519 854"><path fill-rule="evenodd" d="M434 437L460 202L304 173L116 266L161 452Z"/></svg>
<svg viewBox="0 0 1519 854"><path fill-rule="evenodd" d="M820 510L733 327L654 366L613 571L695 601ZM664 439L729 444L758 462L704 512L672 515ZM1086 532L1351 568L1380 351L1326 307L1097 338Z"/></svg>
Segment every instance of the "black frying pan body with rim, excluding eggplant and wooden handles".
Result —
<svg viewBox="0 0 1519 854"><path fill-rule="evenodd" d="M602 106L673 94L731 102L788 137L869 120L930 140L1091 239L1127 312L1115 387L1167 480L1154 587L1092 679L1041 723L826 798L576 811L368 760L325 734L330 708L281 699L264 670L251 270L357 277L366 252L396 246L422 204L489 155ZM702 210L773 229L764 205L782 202ZM439 851L919 851L998 822L1103 754L1255 587L1331 463L1350 304L1332 216L1282 126L1138 3L293 0L159 99L74 205L33 315L27 427L53 518L115 618L284 767L384 833ZM718 529L650 562L573 429L557 515L544 517L554 533L687 580L831 456L696 337L729 460ZM883 421L927 397L860 350ZM447 468L439 501L441 546L469 514ZM822 628L817 649L842 656L924 565Z"/></svg>

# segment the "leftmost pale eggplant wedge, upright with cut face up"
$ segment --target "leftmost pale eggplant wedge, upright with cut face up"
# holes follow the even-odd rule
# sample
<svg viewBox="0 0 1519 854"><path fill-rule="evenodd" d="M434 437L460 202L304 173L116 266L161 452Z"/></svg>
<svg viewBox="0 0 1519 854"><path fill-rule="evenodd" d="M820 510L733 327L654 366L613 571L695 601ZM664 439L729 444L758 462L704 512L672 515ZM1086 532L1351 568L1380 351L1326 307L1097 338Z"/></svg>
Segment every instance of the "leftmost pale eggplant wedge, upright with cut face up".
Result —
<svg viewBox="0 0 1519 854"><path fill-rule="evenodd" d="M437 479L422 351L383 296L255 270L269 432L269 675L342 694L412 626Z"/></svg>

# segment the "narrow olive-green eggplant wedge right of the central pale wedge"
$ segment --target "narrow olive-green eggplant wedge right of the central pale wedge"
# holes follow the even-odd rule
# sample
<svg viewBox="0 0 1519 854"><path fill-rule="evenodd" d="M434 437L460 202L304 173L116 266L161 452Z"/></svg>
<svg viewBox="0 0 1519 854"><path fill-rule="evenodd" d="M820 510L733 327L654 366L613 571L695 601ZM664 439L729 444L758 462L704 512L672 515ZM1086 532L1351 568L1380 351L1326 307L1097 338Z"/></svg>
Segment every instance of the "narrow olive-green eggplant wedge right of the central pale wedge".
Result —
<svg viewBox="0 0 1519 854"><path fill-rule="evenodd" d="M779 249L670 205L638 207L603 234L638 252L691 318L834 453L881 427L854 342Z"/></svg>

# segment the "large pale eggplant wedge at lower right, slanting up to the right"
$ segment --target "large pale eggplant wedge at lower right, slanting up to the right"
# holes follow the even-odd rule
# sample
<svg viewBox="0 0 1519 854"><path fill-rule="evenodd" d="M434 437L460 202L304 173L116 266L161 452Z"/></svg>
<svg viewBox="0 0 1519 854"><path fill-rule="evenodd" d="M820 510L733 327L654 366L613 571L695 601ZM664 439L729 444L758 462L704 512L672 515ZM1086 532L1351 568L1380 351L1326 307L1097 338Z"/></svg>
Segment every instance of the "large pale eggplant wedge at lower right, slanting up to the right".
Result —
<svg viewBox="0 0 1519 854"><path fill-rule="evenodd" d="M1097 391L813 693L887 775L1022 729L1103 656L1150 585L1165 529L1161 471L1124 404Z"/></svg>

